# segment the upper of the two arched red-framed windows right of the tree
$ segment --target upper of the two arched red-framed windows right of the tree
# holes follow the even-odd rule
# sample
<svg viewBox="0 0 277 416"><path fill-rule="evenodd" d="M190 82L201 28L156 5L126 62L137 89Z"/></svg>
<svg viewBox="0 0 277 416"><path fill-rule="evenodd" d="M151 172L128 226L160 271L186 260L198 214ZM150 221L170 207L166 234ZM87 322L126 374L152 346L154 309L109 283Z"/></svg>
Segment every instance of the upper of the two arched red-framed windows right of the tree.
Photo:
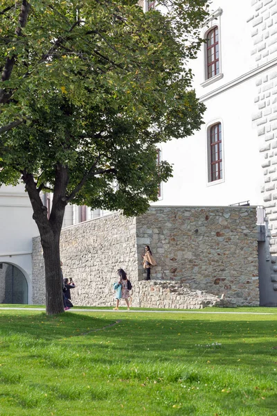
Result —
<svg viewBox="0 0 277 416"><path fill-rule="evenodd" d="M215 26L206 36L206 65L207 78L220 73L220 46L218 40L218 27Z"/></svg>

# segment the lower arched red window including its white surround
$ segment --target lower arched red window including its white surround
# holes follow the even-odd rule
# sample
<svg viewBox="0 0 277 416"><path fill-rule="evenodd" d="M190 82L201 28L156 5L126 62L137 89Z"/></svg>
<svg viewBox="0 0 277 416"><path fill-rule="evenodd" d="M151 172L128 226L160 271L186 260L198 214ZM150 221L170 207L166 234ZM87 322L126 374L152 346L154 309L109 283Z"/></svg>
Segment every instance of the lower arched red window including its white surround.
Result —
<svg viewBox="0 0 277 416"><path fill-rule="evenodd" d="M223 180L222 123L208 126L208 182L215 184Z"/></svg>

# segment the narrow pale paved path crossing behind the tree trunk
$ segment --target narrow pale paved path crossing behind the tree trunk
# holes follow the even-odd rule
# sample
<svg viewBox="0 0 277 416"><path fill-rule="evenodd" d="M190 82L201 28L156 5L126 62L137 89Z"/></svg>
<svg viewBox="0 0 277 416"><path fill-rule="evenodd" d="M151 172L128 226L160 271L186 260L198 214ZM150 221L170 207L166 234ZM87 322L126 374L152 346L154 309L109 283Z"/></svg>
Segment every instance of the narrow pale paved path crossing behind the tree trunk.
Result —
<svg viewBox="0 0 277 416"><path fill-rule="evenodd" d="M12 307L0 307L1 310L15 310L15 311L45 311L45 308L12 308ZM190 311L152 311L150 310L142 310L142 309L131 309L130 311L127 311L126 309L119 309L119 311L114 311L113 309L78 309L78 308L71 308L67 312L113 312L113 313L120 313L120 312L126 312L126 313L233 313L235 315L276 315L274 312L233 312L233 311L199 311L199 309L193 309Z"/></svg>

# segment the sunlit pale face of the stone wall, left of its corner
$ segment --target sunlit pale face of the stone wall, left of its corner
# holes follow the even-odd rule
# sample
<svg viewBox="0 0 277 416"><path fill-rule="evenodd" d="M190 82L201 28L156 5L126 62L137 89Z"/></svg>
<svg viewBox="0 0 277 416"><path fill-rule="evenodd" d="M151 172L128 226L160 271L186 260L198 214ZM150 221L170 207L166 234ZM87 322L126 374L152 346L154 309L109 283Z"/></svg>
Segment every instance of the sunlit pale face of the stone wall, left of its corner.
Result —
<svg viewBox="0 0 277 416"><path fill-rule="evenodd" d="M60 257L64 277L72 277L73 304L107 306L114 304L111 290L118 268L138 279L136 218L112 214L62 230ZM33 239L33 303L44 304L44 259L40 239Z"/></svg>

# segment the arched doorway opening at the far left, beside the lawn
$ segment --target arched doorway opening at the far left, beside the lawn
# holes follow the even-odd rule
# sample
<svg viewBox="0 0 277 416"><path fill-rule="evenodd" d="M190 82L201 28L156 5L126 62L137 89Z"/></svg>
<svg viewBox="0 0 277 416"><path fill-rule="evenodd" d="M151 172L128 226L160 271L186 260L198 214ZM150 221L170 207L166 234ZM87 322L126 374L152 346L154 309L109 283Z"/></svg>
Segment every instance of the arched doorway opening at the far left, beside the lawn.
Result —
<svg viewBox="0 0 277 416"><path fill-rule="evenodd" d="M0 263L0 303L28 304L26 277L10 263Z"/></svg>

